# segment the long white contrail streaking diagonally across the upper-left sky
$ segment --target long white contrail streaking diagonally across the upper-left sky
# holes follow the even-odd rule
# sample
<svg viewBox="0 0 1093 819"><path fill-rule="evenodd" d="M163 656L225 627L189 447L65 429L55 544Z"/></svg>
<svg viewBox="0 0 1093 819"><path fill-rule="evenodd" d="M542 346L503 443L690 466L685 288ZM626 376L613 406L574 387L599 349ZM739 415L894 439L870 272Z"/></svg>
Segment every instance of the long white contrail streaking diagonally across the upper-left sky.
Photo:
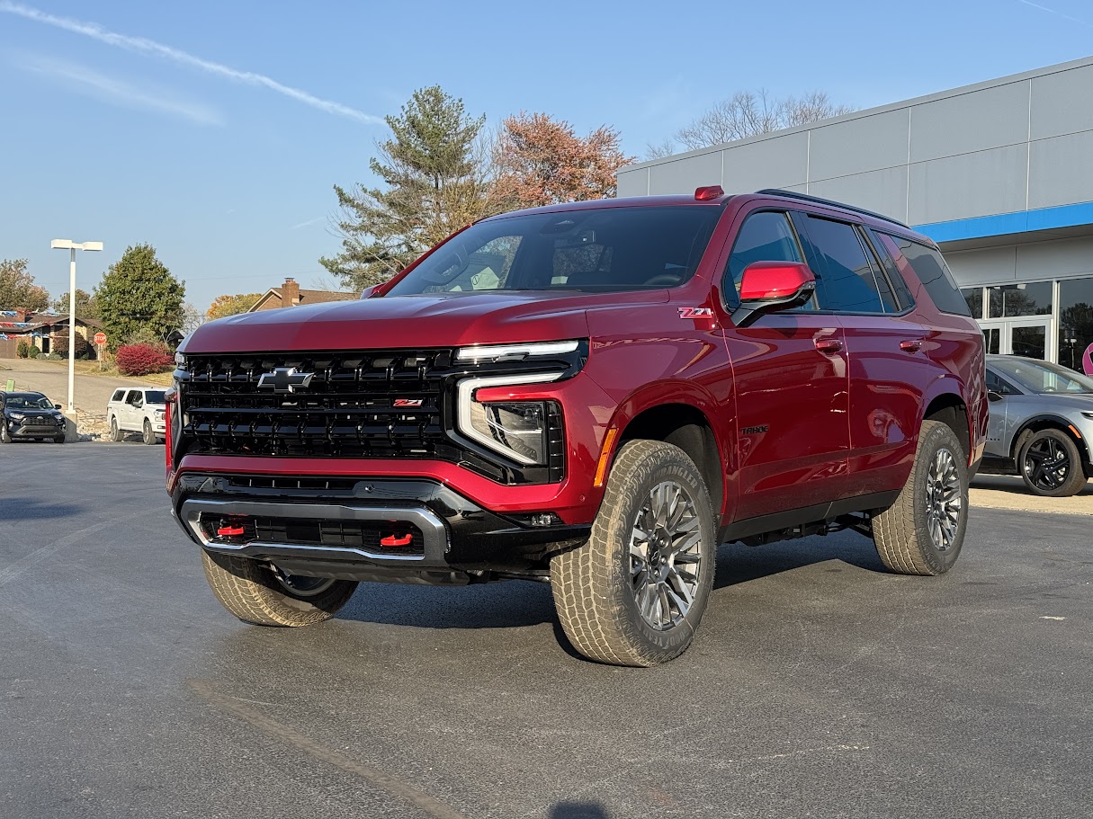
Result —
<svg viewBox="0 0 1093 819"><path fill-rule="evenodd" d="M341 103L336 103L330 99L321 99L320 97L308 94L306 91L293 88L291 85L283 85L277 80L266 76L265 74L257 74L252 71L238 71L230 66L224 66L211 60L203 60L200 57L195 57L191 54L180 51L177 48L165 46L162 43L156 43L155 40L151 40L145 37L130 37L125 34L108 31L97 23L84 23L79 20L72 20L71 17L58 17L54 14L47 14L38 9L31 8L30 5L13 3L9 0L0 0L0 12L15 14L17 16L25 17L26 20L33 20L36 23L44 23L45 25L51 25L55 28L62 28L66 32L71 32L73 34L82 34L84 37L97 39L99 43L105 43L106 45L114 46L116 48L124 48L128 51L137 51L140 54L155 55L156 57L162 57L166 60L177 62L180 66L196 68L200 71L204 71L205 73L223 76L228 80L234 80L235 82L246 83L247 85L260 85L269 88L270 91L275 91L278 94L290 97L291 99L295 99L298 103L303 103L304 105L318 108L327 114L337 114L341 117L355 119L359 122L367 122L368 124L384 123L384 120L380 117L359 111L356 108L350 108L348 105L342 105Z"/></svg>

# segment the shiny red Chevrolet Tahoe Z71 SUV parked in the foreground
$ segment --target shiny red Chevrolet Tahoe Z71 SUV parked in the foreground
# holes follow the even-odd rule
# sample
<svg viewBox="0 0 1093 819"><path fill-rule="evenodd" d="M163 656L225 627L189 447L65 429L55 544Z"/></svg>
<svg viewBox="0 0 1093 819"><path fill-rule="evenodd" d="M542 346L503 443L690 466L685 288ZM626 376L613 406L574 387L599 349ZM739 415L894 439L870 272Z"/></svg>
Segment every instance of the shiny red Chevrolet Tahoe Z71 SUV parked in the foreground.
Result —
<svg viewBox="0 0 1093 819"><path fill-rule="evenodd" d="M537 580L621 665L687 648L720 543L854 529L947 571L987 429L937 247L779 190L487 218L357 302L204 324L175 378L168 491L239 618Z"/></svg>

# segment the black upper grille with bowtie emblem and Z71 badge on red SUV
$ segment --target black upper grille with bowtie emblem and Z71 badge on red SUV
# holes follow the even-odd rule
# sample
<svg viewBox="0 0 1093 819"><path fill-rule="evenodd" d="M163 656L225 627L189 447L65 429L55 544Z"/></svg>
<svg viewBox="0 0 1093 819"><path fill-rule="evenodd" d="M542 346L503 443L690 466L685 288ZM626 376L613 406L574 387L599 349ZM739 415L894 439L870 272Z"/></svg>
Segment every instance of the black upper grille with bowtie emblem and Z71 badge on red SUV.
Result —
<svg viewBox="0 0 1093 819"><path fill-rule="evenodd" d="M450 371L450 349L187 356L186 451L458 461L440 422Z"/></svg>

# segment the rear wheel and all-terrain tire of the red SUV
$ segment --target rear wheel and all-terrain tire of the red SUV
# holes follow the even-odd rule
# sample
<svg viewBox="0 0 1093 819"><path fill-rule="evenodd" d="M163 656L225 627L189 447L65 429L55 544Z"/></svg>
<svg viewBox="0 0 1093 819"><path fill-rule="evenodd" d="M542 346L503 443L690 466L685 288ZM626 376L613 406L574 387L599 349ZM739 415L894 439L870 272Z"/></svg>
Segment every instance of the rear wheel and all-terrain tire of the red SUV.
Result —
<svg viewBox="0 0 1093 819"><path fill-rule="evenodd" d="M877 554L897 574L943 574L967 531L967 461L947 424L924 420L895 502L872 520Z"/></svg>

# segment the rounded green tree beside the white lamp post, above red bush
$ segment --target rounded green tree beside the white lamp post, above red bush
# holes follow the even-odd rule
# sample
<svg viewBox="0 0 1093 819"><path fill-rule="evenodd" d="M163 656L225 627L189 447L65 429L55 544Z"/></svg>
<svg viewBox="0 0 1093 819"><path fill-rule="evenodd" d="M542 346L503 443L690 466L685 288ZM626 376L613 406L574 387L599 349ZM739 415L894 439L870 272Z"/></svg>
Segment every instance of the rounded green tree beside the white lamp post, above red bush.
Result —
<svg viewBox="0 0 1093 819"><path fill-rule="evenodd" d="M163 340L183 325L186 285L155 258L151 245L134 245L110 265L95 288L110 348L130 336Z"/></svg>

